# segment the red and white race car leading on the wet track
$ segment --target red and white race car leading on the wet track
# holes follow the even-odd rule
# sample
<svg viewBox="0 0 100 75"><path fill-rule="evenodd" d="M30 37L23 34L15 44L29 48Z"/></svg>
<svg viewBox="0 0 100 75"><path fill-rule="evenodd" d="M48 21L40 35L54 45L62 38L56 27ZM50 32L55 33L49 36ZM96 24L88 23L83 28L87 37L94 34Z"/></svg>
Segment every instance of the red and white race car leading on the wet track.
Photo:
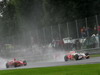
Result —
<svg viewBox="0 0 100 75"><path fill-rule="evenodd" d="M77 53L75 51L70 51L67 55L64 56L64 60L82 60L82 59L89 59L89 53Z"/></svg>

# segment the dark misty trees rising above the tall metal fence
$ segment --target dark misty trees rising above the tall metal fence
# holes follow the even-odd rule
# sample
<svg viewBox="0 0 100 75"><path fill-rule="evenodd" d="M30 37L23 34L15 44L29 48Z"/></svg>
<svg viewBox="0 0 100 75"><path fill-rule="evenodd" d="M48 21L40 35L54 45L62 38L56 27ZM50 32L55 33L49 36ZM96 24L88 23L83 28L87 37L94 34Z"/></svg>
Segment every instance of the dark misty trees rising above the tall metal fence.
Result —
<svg viewBox="0 0 100 75"><path fill-rule="evenodd" d="M8 43L23 37L29 42L36 29L100 13L100 0L9 0L4 6L0 40Z"/></svg>

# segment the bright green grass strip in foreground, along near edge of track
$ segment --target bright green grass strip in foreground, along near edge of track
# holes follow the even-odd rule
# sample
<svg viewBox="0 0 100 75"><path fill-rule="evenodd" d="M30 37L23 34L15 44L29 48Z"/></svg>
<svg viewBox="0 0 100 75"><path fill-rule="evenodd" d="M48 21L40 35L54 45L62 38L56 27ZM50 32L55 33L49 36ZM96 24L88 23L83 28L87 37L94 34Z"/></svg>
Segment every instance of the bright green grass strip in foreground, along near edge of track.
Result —
<svg viewBox="0 0 100 75"><path fill-rule="evenodd" d="M100 75L100 64L1 70L0 75Z"/></svg>

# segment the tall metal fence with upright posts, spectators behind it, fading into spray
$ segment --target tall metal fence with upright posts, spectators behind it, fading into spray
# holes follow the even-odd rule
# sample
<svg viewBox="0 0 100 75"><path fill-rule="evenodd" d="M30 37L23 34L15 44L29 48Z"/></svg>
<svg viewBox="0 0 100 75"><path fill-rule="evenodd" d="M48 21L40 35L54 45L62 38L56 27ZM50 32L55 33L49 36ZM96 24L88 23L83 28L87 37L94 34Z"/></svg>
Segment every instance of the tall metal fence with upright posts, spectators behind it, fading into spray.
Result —
<svg viewBox="0 0 100 75"><path fill-rule="evenodd" d="M16 43L19 42L17 45L21 47L22 45L19 44L25 44L24 47L27 47L27 45L32 47L33 44L38 44L42 46L51 45L53 47L63 48L66 50L99 48L99 20L100 15L95 15L62 24L46 26L40 29L25 30L22 34L19 33L20 35L18 36L11 36L10 39L9 37L3 38L3 42L4 44L10 44L12 40L13 43L11 44L14 44L15 46ZM85 34L81 32L81 29L84 27ZM16 41L16 38L18 41Z"/></svg>

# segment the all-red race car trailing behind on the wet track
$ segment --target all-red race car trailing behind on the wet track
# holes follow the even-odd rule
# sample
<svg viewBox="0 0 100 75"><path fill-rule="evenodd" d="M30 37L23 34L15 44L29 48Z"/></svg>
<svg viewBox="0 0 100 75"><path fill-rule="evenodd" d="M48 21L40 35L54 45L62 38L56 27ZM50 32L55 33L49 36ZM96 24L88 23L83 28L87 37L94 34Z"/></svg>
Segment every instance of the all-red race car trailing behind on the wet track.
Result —
<svg viewBox="0 0 100 75"><path fill-rule="evenodd" d="M27 62L26 60L12 60L12 61L8 61L6 63L6 68L10 68L10 67L20 67L20 66L26 66Z"/></svg>

